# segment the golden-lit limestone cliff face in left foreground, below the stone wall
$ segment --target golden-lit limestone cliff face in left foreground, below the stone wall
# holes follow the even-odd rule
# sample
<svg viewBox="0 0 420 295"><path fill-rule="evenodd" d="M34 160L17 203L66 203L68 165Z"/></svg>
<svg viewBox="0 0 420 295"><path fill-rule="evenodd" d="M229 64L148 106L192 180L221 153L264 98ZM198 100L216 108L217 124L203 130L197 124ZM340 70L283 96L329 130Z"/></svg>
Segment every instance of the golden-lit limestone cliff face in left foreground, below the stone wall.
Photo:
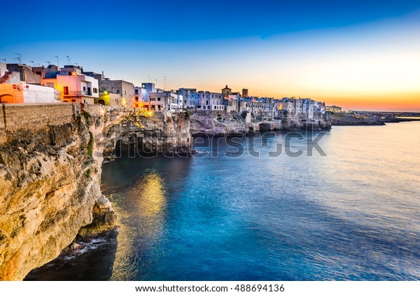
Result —
<svg viewBox="0 0 420 295"><path fill-rule="evenodd" d="M111 203L99 188L100 160L84 118L9 132L0 146L0 280L22 280L54 259ZM92 233L92 231L90 231Z"/></svg>

